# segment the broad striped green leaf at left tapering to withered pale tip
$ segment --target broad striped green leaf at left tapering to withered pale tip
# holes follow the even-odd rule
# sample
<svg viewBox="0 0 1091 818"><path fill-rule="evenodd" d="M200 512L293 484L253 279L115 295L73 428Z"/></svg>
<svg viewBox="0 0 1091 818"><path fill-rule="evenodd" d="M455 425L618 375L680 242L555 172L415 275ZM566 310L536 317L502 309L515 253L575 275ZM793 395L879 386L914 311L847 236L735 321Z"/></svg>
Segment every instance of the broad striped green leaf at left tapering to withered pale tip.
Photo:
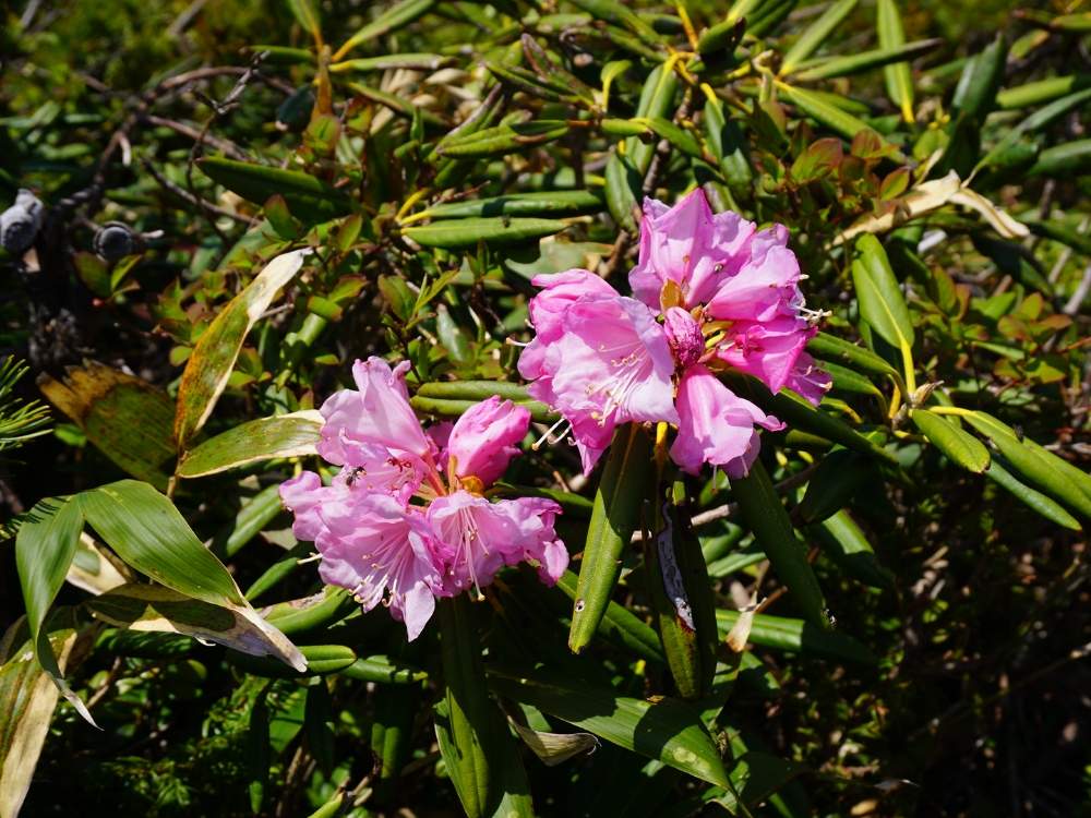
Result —
<svg viewBox="0 0 1091 818"><path fill-rule="evenodd" d="M299 650L243 599L227 568L201 544L173 503L151 485L121 480L83 492L77 500L87 522L125 563L171 590L248 619L265 635L264 642L252 643L255 655L272 654L298 671L307 667Z"/></svg>

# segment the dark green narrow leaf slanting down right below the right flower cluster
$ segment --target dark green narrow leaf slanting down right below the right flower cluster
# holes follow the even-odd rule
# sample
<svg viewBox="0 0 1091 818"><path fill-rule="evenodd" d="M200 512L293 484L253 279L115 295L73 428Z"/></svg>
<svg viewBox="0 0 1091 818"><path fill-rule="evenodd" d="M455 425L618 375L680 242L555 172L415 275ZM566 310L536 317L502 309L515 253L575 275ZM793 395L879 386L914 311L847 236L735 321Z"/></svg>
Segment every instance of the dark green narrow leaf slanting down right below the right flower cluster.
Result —
<svg viewBox="0 0 1091 818"><path fill-rule="evenodd" d="M731 491L739 501L746 526L769 557L772 570L788 587L807 621L829 627L826 600L807 562L806 550L795 536L788 512L762 461L755 460L746 477L733 479Z"/></svg>

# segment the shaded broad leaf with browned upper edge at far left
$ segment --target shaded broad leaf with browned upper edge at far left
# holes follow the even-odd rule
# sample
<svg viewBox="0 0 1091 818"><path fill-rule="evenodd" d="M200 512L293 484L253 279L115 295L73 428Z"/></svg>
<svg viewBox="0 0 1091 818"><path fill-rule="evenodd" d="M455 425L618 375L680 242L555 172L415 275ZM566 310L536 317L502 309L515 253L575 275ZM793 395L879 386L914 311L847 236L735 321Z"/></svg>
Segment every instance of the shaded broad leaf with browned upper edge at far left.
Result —
<svg viewBox="0 0 1091 818"><path fill-rule="evenodd" d="M63 381L44 373L38 387L119 468L167 488L175 407L163 389L94 361L70 366Z"/></svg>

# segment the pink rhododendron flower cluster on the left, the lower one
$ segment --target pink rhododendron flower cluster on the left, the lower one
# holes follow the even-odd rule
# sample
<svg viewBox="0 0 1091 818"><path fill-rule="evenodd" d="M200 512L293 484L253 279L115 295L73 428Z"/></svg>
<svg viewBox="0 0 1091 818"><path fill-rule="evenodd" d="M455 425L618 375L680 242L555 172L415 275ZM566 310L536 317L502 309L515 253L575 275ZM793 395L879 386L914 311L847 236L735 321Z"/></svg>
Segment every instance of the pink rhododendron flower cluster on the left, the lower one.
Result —
<svg viewBox="0 0 1091 818"><path fill-rule="evenodd" d="M295 513L296 537L317 546L322 579L348 588L365 611L388 605L412 640L436 597L480 593L501 567L521 561L553 585L568 553L553 530L556 503L482 495L518 454L530 413L493 397L425 431L409 405L408 366L356 362L358 389L321 408L319 454L340 471L331 485L304 471L280 497Z"/></svg>

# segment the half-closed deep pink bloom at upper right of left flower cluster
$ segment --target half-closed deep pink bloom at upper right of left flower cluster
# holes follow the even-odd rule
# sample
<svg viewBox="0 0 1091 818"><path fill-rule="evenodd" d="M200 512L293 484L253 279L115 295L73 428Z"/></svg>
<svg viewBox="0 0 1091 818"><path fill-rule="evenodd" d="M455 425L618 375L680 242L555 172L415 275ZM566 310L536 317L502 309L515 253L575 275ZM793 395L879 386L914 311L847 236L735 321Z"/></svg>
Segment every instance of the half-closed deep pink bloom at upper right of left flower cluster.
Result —
<svg viewBox="0 0 1091 818"><path fill-rule="evenodd" d="M526 407L493 396L470 407L455 423L447 443L458 477L476 477L484 485L494 483L519 454L519 443L530 428Z"/></svg>

